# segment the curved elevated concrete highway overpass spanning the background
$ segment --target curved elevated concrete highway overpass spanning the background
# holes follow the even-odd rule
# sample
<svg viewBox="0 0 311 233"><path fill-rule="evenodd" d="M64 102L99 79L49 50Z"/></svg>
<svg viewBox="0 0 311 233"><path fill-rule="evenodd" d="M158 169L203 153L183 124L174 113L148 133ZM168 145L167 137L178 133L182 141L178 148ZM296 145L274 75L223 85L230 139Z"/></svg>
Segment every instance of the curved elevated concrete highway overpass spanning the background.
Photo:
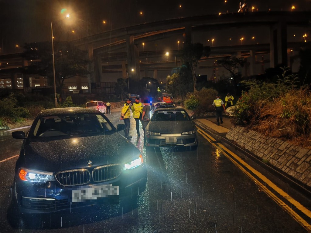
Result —
<svg viewBox="0 0 311 233"><path fill-rule="evenodd" d="M294 26L308 30L310 22L310 12L269 11L194 16L109 30L76 39L73 42L76 46L89 51L89 57L93 61L92 73L94 74L91 77L91 82L104 81L104 73L120 72L120 69L123 78L130 75L131 78L139 80L140 72L128 72L128 70L133 68L135 71L141 71L144 70L144 66L149 66L149 68L157 67L150 66L150 62L153 64L172 63L172 59L168 61L167 58L163 57L164 51L139 50L138 42L141 39L151 42L183 34L184 43L187 44L193 43L192 34L194 33L247 27L265 28L269 31L267 37L269 37L270 43L268 44L211 47L210 59L213 59L213 56L242 56L241 54L248 53L251 61L250 75L252 75L254 73L253 65L256 62L255 57L258 53L270 54L270 67L278 64L287 66L287 49L301 46L301 43L288 43L287 28ZM204 41L200 43L204 44ZM178 60L178 51L170 51L170 57L175 56L176 60ZM141 60L144 62L140 62ZM107 63L112 64L109 66L110 64L107 65Z"/></svg>

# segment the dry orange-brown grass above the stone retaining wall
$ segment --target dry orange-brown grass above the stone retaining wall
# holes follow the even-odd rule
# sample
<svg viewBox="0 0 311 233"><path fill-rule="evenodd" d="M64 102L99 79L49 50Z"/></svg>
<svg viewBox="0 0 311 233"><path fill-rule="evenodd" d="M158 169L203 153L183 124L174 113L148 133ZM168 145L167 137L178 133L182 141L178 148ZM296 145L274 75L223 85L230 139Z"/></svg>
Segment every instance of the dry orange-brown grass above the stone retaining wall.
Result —
<svg viewBox="0 0 311 233"><path fill-rule="evenodd" d="M304 90L293 90L273 103L260 105L254 130L291 144L311 149L311 97Z"/></svg>

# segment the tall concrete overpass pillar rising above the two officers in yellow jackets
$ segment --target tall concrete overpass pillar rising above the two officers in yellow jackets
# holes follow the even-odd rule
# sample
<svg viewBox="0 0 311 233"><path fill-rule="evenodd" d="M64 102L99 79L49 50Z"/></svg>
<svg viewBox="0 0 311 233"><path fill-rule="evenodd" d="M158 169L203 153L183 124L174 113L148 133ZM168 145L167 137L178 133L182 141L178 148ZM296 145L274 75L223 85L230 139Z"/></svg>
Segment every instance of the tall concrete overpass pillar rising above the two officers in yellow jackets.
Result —
<svg viewBox="0 0 311 233"><path fill-rule="evenodd" d="M135 81L140 80L139 51L134 44L134 37L129 35L126 39L127 59L128 59L128 76ZM132 71L134 69L134 71Z"/></svg>

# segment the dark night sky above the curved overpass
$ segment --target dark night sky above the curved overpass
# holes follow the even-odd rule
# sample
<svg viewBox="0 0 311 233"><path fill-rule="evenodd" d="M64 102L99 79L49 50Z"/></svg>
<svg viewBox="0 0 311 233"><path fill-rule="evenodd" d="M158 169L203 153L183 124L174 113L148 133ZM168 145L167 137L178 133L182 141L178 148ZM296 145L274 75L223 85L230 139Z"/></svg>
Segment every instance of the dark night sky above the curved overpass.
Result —
<svg viewBox="0 0 311 233"><path fill-rule="evenodd" d="M293 5L294 11L311 10L310 0L246 3L258 11L291 11ZM64 14L60 11L64 8L75 18L71 25L63 23ZM16 44L22 47L24 43L50 40L51 21L54 35L71 40L145 22L231 13L238 9L239 1L234 0L0 0L0 54L20 52L21 48L16 48Z"/></svg>

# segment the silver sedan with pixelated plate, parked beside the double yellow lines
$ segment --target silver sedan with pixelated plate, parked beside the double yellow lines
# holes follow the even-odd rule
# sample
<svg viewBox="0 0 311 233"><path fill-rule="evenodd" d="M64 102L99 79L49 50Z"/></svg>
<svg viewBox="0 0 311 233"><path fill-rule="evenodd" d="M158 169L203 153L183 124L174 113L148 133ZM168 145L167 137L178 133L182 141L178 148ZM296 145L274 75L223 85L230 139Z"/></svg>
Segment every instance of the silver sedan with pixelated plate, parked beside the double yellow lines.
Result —
<svg viewBox="0 0 311 233"><path fill-rule="evenodd" d="M146 127L146 147L197 148L197 130L183 108L159 108Z"/></svg>

